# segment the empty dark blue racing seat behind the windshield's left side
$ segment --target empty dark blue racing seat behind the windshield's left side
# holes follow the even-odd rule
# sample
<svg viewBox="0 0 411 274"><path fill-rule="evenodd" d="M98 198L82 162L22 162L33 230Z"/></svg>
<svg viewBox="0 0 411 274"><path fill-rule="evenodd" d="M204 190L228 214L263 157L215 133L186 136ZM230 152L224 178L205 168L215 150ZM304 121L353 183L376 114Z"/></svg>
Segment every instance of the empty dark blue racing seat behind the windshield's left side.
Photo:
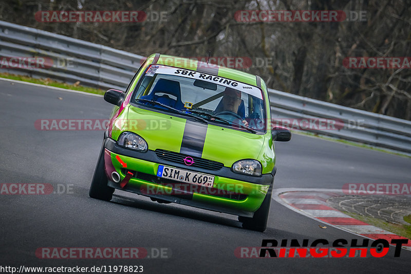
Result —
<svg viewBox="0 0 411 274"><path fill-rule="evenodd" d="M156 95L156 93L164 94L159 96ZM167 94L175 96L176 99L171 98ZM141 99L157 101L161 104L173 107L178 110L181 110L184 107L184 104L181 102L180 83L168 79L159 79L152 92L148 95L141 96Z"/></svg>

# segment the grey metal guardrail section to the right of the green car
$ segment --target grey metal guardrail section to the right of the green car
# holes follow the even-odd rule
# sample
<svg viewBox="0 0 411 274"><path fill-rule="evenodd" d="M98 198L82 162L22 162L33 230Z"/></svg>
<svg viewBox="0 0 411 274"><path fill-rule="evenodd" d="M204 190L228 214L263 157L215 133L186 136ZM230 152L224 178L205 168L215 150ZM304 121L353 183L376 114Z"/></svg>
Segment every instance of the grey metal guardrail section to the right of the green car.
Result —
<svg viewBox="0 0 411 274"><path fill-rule="evenodd" d="M320 119L337 122L335 129L310 127L308 131L402 152L411 152L411 122L387 115L343 107L269 89L273 119ZM291 128L293 128L291 126Z"/></svg>

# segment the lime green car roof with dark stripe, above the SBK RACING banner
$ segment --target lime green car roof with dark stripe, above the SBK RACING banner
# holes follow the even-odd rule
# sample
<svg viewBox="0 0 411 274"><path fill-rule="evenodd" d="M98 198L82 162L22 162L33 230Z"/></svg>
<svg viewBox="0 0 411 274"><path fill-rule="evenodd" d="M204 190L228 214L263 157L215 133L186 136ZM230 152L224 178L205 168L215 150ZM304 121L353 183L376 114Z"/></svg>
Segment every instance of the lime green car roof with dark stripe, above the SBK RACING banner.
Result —
<svg viewBox="0 0 411 274"><path fill-rule="evenodd" d="M148 56L147 61L152 64L172 66L176 68L189 69L202 73L216 75L261 88L262 80L257 75L253 75L251 73L247 73L233 68L222 67L214 64L207 64L206 62L201 62L196 59L156 53Z"/></svg>

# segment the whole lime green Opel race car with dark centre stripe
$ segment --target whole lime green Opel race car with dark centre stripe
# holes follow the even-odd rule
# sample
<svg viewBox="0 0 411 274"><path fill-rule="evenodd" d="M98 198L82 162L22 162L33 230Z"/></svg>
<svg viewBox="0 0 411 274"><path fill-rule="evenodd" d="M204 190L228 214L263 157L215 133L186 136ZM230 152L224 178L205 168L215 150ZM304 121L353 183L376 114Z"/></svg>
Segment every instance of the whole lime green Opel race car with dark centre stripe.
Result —
<svg viewBox="0 0 411 274"><path fill-rule="evenodd" d="M91 182L92 198L115 189L235 214L264 231L276 168L264 81L256 75L188 58L153 54L114 104Z"/></svg>

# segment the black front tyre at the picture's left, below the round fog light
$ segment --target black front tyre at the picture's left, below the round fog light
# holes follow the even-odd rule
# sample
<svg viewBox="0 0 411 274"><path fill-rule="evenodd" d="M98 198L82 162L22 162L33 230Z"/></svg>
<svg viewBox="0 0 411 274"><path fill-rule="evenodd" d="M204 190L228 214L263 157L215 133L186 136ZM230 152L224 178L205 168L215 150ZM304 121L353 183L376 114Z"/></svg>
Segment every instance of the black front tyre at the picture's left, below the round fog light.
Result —
<svg viewBox="0 0 411 274"><path fill-rule="evenodd" d="M91 180L88 195L91 198L110 201L113 198L114 188L107 186L107 177L104 170L104 145L101 147L99 160Z"/></svg>

